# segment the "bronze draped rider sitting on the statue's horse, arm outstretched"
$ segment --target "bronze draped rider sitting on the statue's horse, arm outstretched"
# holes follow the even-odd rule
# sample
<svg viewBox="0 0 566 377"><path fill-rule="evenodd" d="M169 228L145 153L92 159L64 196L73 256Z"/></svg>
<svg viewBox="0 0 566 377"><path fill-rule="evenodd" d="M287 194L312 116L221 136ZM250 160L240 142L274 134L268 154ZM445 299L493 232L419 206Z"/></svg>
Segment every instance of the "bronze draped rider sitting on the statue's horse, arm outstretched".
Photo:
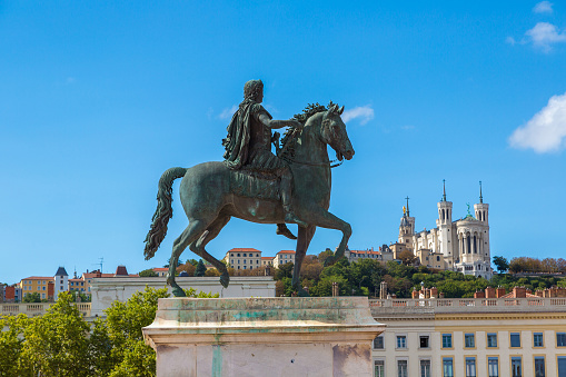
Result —
<svg viewBox="0 0 566 377"><path fill-rule="evenodd" d="M275 173L281 179L281 201L285 210L285 222L307 224L299 219L292 209L292 173L282 159L271 152L271 129L282 127L302 127L295 120L274 120L271 115L261 106L264 100L264 83L261 80L250 80L244 87L244 101L228 126L228 136L222 145L226 165L234 170L247 168L250 170ZM284 229L285 228L285 229ZM285 225L278 225L278 234L285 234Z"/></svg>

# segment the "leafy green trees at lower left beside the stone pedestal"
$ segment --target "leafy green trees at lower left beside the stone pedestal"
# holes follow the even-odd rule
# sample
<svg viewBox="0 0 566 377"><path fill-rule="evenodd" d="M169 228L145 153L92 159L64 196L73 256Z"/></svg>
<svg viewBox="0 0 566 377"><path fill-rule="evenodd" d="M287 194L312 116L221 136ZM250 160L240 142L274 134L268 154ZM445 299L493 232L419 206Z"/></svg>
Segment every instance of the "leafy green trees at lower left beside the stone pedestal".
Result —
<svg viewBox="0 0 566 377"><path fill-rule="evenodd" d="M187 297L218 294L186 289ZM156 375L156 354L141 328L153 321L167 288L147 288L128 301L115 301L90 326L61 292L43 316L0 316L0 376L147 376Z"/></svg>

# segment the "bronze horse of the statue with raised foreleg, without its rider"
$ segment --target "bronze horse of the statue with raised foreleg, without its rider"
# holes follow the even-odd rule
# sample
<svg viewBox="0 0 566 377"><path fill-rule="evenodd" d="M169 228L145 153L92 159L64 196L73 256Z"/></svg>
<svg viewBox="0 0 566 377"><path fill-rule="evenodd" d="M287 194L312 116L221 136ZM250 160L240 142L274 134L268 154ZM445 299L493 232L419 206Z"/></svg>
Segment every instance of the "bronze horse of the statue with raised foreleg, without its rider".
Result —
<svg viewBox="0 0 566 377"><path fill-rule="evenodd" d="M284 139L280 150L281 157L289 161L294 176L294 208L308 226L298 227L298 239L292 272L292 286L304 295L299 281L300 266L307 248L315 235L316 227L337 229L342 232L340 245L334 256L326 264L332 264L344 255L344 250L351 235L348 222L328 211L330 206L330 160L327 145L341 161L354 157L346 125L340 118L344 107L322 107L305 122L300 129L291 130ZM167 232L167 222L172 216L171 194L172 182L183 178L180 185L181 205L189 219L189 226L173 242L167 282L172 287L177 297L185 296L182 289L175 281L175 271L179 256L189 247L191 251L209 261L220 272L220 282L228 287L230 277L226 266L205 250L205 246L215 239L230 218L259 224L281 224L285 212L281 201L277 197L265 198L260 195L241 195L235 192L234 175L246 175L246 171L230 170L224 162L205 162L192 168L171 168L161 176L157 195L158 207L152 218L151 229L146 238L146 260L153 257ZM249 175L252 175L251 172ZM252 178L256 183L267 180ZM268 185L268 183L266 183Z"/></svg>

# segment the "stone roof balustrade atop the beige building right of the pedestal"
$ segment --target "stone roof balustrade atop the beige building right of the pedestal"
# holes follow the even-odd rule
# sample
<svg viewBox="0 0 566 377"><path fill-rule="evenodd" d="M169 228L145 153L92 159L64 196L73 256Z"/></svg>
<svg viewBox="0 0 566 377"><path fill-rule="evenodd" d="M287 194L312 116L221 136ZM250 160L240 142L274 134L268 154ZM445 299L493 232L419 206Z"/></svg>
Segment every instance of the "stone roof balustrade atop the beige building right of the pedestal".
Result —
<svg viewBox="0 0 566 377"><path fill-rule="evenodd" d="M566 298L427 298L369 300L374 315L413 312L566 311Z"/></svg>

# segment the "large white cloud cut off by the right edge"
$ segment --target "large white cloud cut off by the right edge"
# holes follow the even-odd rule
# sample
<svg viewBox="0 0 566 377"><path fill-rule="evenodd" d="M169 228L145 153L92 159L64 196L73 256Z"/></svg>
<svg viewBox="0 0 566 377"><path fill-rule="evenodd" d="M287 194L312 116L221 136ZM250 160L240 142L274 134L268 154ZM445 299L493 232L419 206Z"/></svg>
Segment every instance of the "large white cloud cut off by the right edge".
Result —
<svg viewBox="0 0 566 377"><path fill-rule="evenodd" d="M509 137L509 145L537 153L558 151L566 145L566 93L553 96L548 105Z"/></svg>

